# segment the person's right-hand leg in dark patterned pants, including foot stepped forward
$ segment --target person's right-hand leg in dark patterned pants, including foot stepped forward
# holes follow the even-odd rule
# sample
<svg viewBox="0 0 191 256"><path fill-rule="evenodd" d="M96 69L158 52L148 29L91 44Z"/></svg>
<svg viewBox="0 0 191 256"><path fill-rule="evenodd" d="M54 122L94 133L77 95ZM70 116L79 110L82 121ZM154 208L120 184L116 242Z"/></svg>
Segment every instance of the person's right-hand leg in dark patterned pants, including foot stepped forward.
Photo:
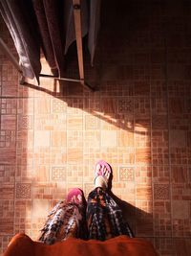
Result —
<svg viewBox="0 0 191 256"><path fill-rule="evenodd" d="M96 165L96 188L89 194L87 204L87 225L89 239L107 240L119 235L133 237L123 221L122 212L116 201L107 193L111 170L108 166Z"/></svg>

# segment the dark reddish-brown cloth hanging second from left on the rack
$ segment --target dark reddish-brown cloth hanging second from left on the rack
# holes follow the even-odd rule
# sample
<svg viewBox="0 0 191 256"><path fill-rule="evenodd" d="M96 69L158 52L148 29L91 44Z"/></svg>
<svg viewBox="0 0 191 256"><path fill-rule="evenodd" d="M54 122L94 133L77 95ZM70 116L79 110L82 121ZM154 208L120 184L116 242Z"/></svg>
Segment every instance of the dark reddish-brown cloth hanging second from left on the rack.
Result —
<svg viewBox="0 0 191 256"><path fill-rule="evenodd" d="M63 1L32 0L42 37L42 49L53 75L64 76Z"/></svg>

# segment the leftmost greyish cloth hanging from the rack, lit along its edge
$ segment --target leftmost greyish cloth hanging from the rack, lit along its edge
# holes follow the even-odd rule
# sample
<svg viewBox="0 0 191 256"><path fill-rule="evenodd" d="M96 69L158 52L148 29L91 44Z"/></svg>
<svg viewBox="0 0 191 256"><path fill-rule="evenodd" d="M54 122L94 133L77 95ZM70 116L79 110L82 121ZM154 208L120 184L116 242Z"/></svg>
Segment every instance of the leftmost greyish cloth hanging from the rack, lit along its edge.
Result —
<svg viewBox="0 0 191 256"><path fill-rule="evenodd" d="M0 12L11 33L23 75L39 82L40 36L31 1L0 1Z"/></svg>

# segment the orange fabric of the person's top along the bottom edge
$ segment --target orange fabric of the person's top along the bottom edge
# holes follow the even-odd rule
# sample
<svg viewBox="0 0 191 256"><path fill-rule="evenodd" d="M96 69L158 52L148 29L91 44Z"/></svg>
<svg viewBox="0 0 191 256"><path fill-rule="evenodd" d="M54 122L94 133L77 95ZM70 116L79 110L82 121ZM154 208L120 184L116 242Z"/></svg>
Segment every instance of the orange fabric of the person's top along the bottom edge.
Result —
<svg viewBox="0 0 191 256"><path fill-rule="evenodd" d="M33 242L25 234L15 235L4 256L157 256L154 247L149 242L118 236L100 242L96 240L84 241L69 238L64 242L53 245Z"/></svg>

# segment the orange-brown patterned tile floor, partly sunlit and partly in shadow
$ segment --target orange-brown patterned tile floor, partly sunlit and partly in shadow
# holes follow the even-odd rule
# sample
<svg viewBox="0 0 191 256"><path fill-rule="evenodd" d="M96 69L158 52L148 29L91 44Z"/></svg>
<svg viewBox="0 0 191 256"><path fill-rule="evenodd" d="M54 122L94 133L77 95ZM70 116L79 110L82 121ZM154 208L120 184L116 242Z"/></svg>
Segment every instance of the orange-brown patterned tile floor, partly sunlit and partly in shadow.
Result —
<svg viewBox="0 0 191 256"><path fill-rule="evenodd" d="M0 253L16 232L35 239L71 187L87 195L103 158L136 236L159 255L190 255L191 2L102 2L94 68L85 56L96 92L18 85L0 53ZM77 73L74 61L68 72Z"/></svg>

